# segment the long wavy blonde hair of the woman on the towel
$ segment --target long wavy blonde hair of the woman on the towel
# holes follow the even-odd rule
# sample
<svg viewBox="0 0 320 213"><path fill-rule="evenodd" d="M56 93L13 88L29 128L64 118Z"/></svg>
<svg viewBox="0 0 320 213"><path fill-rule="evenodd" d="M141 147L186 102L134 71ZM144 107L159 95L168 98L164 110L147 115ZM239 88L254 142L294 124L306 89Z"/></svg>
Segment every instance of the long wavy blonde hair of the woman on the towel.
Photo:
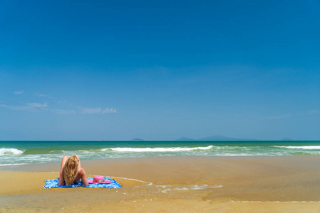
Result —
<svg viewBox="0 0 320 213"><path fill-rule="evenodd" d="M70 185L78 175L79 159L77 155L71 155L63 166L63 178L66 185Z"/></svg>

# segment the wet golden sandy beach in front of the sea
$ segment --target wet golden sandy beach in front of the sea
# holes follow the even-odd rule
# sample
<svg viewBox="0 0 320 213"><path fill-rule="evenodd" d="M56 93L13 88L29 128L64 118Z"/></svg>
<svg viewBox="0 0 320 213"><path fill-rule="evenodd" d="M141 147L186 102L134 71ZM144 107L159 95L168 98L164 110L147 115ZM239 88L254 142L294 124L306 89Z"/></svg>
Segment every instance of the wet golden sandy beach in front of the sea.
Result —
<svg viewBox="0 0 320 213"><path fill-rule="evenodd" d="M44 189L60 163L2 166L0 212L319 212L319 156L82 160L120 189Z"/></svg>

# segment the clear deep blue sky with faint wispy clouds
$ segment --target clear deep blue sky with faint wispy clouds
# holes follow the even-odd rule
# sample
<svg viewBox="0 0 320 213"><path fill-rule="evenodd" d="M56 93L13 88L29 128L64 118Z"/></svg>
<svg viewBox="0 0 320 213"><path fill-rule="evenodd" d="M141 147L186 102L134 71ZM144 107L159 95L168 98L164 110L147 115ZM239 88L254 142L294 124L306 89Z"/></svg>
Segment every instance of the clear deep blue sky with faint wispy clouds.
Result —
<svg viewBox="0 0 320 213"><path fill-rule="evenodd" d="M319 1L0 1L0 140L320 140Z"/></svg>

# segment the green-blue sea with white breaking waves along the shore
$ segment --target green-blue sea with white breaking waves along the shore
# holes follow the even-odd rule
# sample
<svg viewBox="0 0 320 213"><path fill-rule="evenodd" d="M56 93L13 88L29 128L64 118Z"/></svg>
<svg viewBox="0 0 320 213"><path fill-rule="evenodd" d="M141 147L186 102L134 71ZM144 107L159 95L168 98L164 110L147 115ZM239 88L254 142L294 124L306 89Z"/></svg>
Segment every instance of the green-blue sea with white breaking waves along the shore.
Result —
<svg viewBox="0 0 320 213"><path fill-rule="evenodd" d="M0 141L0 166L168 155L320 155L320 141Z"/></svg>

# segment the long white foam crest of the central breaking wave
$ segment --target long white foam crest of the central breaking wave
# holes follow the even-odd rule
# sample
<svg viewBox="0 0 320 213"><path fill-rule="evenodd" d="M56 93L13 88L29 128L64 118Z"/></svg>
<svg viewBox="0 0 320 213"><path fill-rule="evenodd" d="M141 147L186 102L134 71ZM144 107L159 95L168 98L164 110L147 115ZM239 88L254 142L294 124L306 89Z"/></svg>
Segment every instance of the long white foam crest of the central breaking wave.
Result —
<svg viewBox="0 0 320 213"><path fill-rule="evenodd" d="M157 147L157 148L105 148L105 150L112 150L117 152L180 152L180 151L195 151L195 150L208 150L213 146L203 146L203 147L192 147L192 148L183 148L183 147Z"/></svg>

